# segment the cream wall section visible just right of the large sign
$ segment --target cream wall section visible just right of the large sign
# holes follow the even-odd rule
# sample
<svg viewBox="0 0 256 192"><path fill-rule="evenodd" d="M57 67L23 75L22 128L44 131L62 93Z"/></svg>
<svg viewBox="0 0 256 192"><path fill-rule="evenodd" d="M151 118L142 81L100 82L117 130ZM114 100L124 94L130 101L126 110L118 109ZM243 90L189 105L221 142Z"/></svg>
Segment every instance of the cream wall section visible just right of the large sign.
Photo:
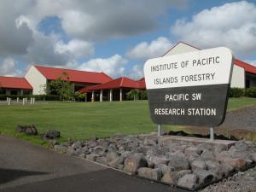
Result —
<svg viewBox="0 0 256 192"><path fill-rule="evenodd" d="M245 88L245 71L243 67L234 65L230 86Z"/></svg>

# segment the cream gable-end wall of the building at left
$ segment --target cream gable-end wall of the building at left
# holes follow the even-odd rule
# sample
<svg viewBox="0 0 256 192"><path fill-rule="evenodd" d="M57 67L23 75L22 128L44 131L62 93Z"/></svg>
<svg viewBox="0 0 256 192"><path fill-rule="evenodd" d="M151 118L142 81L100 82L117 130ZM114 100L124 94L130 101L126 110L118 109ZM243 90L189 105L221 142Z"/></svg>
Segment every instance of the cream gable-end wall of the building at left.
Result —
<svg viewBox="0 0 256 192"><path fill-rule="evenodd" d="M25 76L28 83L32 85L33 95L40 95L44 93L44 86L46 86L47 79L34 66L30 67Z"/></svg>

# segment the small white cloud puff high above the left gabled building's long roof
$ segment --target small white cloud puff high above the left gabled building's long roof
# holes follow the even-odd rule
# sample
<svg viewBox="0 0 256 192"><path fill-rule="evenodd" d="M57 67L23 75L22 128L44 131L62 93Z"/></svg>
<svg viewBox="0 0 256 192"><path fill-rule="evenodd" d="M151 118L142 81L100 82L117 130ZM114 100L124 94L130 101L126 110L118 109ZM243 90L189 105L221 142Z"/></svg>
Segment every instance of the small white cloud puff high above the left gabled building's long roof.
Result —
<svg viewBox="0 0 256 192"><path fill-rule="evenodd" d="M59 54L73 55L74 58L87 57L94 54L94 46L92 43L73 39L67 44L63 41L58 41L55 44L55 51Z"/></svg>

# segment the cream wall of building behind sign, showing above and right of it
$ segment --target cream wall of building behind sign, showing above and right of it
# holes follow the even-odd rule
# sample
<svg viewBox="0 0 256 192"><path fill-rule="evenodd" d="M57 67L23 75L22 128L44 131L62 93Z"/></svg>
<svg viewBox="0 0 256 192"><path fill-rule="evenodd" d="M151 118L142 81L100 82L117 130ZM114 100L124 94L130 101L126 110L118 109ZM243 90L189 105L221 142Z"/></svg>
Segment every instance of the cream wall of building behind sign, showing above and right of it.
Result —
<svg viewBox="0 0 256 192"><path fill-rule="evenodd" d="M172 49L170 49L166 55L177 55L187 52L196 51L195 47L189 46L188 44L179 43ZM164 56L166 56L164 55ZM245 88L245 71L244 68L234 65L231 79L231 87Z"/></svg>

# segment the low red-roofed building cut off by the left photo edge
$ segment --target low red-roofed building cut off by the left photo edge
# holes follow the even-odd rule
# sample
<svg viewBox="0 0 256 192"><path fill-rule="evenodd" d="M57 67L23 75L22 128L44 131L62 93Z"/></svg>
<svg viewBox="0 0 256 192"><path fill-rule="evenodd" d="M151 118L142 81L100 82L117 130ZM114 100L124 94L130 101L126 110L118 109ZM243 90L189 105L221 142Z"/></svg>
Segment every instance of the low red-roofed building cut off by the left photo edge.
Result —
<svg viewBox="0 0 256 192"><path fill-rule="evenodd" d="M0 76L0 94L31 95L32 89L32 85L25 78Z"/></svg>

